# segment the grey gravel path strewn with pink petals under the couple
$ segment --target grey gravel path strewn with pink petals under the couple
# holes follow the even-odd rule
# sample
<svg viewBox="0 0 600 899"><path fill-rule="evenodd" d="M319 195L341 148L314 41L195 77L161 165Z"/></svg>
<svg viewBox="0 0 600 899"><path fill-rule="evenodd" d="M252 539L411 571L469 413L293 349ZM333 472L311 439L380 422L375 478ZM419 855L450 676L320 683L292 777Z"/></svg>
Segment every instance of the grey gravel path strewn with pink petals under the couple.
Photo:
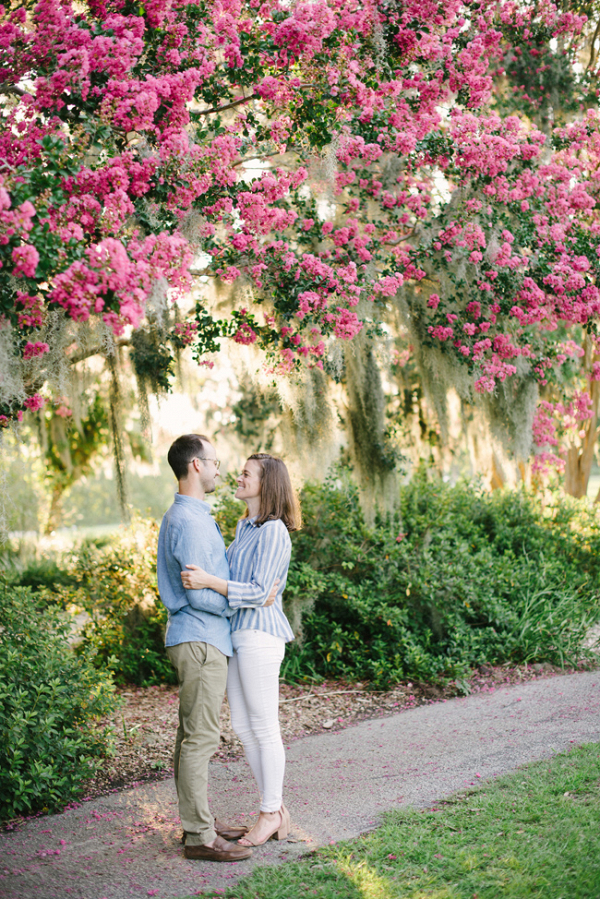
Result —
<svg viewBox="0 0 600 899"><path fill-rule="evenodd" d="M489 689L363 721L288 746L291 839L236 865L183 858L173 782L146 784L0 834L2 899L174 899L233 886L256 865L354 837L383 811L431 806L526 762L600 742L600 672ZM249 820L243 760L211 763L220 818Z"/></svg>

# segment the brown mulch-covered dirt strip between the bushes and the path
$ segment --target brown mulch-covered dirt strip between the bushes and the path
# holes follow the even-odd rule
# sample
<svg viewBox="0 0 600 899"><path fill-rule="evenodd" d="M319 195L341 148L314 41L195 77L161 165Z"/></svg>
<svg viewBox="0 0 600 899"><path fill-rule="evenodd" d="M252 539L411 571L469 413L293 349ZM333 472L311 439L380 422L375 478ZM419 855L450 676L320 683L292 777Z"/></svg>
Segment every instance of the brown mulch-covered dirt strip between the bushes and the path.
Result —
<svg viewBox="0 0 600 899"><path fill-rule="evenodd" d="M385 692L372 692L365 685L325 681L312 685L282 684L280 722L285 743L309 734L341 730L368 718L385 717L403 709L454 696L494 691L540 677L565 674L552 665L485 667L466 680L445 687L400 683ZM105 759L90 781L86 799L102 796L173 773L172 753L177 728L177 687L127 687L119 690L122 700L117 714L108 719L115 731L114 755ZM221 710L221 743L217 758L237 759L242 746L231 728L227 700Z"/></svg>

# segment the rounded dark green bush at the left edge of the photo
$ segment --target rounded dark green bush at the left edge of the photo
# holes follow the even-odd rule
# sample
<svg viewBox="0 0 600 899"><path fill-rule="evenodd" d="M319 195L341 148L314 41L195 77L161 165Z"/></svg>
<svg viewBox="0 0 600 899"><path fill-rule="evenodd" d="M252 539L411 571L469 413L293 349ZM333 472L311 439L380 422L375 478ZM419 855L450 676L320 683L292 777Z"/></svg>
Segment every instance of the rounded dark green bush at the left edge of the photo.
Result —
<svg viewBox="0 0 600 899"><path fill-rule="evenodd" d="M0 819L60 808L79 796L110 732L109 675L68 648L69 624L29 588L0 587Z"/></svg>

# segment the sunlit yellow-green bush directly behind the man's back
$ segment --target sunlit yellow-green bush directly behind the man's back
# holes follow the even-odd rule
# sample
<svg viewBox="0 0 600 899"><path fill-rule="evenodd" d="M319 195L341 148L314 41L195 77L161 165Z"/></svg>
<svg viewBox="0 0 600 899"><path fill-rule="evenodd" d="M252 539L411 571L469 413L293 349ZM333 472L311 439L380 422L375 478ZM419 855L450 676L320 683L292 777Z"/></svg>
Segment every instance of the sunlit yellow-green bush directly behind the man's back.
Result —
<svg viewBox="0 0 600 899"><path fill-rule="evenodd" d="M165 653L167 610L156 585L158 527L137 521L108 545L84 543L73 552L72 588L57 595L89 617L78 652L94 650L94 664L119 684L176 683Z"/></svg>

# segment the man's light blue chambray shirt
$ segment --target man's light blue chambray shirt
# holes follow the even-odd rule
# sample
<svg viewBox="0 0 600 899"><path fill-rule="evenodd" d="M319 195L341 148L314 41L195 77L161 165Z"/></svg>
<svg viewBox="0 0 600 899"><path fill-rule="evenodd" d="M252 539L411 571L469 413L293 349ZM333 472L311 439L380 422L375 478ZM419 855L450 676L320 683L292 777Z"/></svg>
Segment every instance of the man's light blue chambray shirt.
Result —
<svg viewBox="0 0 600 899"><path fill-rule="evenodd" d="M160 526L156 560L158 590L169 612L165 644L198 640L233 655L229 622L233 609L214 590L186 590L181 583L186 565L199 565L224 580L230 577L225 544L210 506L176 493Z"/></svg>

